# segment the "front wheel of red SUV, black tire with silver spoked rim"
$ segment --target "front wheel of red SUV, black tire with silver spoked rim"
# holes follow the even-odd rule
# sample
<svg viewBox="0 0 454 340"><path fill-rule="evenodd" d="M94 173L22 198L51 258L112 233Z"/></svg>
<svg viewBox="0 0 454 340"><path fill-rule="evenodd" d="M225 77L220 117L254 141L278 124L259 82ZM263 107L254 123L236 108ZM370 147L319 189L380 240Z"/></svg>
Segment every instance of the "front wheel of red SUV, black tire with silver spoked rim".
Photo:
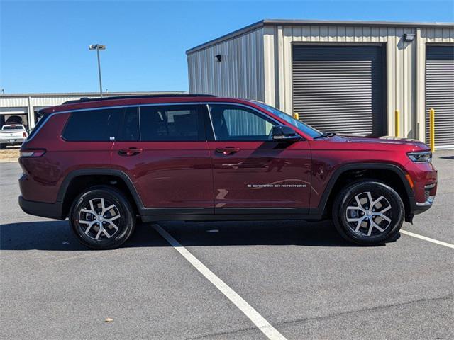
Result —
<svg viewBox="0 0 454 340"><path fill-rule="evenodd" d="M372 203L382 198L371 207L370 197ZM356 208L359 206L361 209ZM336 229L344 239L357 244L378 245L393 240L402 227L404 216L402 198L380 181L351 183L338 193L333 203Z"/></svg>

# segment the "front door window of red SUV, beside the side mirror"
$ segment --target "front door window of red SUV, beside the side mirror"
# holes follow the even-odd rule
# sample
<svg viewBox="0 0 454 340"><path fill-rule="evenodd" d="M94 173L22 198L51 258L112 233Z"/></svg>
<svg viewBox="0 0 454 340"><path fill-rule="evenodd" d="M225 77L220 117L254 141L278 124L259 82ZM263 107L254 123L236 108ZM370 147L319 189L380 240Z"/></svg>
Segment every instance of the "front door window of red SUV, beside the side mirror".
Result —
<svg viewBox="0 0 454 340"><path fill-rule="evenodd" d="M270 118L252 109L232 105L210 105L216 140L270 140Z"/></svg>

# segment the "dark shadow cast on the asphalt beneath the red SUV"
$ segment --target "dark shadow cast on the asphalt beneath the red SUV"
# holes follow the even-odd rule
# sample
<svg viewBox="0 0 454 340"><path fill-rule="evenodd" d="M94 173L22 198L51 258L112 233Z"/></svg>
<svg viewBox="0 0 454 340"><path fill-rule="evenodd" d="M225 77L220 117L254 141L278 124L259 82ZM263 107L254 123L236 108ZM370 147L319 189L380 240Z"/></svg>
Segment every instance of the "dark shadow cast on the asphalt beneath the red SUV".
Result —
<svg viewBox="0 0 454 340"><path fill-rule="evenodd" d="M331 221L160 222L183 246L358 246L346 242ZM151 223L137 225L123 248L170 246ZM0 225L0 250L85 251L67 221Z"/></svg>

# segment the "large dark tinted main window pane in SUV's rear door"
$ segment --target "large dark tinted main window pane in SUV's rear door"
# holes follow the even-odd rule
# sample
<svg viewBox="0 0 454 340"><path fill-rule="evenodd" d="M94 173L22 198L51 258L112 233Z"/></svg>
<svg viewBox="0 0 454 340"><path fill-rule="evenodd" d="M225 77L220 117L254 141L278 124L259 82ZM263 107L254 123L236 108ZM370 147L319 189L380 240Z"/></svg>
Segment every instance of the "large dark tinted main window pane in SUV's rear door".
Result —
<svg viewBox="0 0 454 340"><path fill-rule="evenodd" d="M139 111L143 141L204 140L197 106L140 106Z"/></svg>

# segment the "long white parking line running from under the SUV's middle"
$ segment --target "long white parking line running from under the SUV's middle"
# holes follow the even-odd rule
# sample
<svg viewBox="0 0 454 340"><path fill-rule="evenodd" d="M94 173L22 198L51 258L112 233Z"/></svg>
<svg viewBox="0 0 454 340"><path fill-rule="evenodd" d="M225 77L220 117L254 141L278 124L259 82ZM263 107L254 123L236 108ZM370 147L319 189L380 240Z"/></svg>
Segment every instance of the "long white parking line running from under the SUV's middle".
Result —
<svg viewBox="0 0 454 340"><path fill-rule="evenodd" d="M240 297L240 295L235 293L232 288L226 285L226 283L210 271L209 268L206 268L203 263L201 263L194 255L184 248L184 246L179 244L179 242L168 232L162 229L160 225L153 225L153 227L167 240L167 242L170 243L171 246L179 252L179 254L184 257L184 259L187 259L187 261L191 263L192 266L194 266L203 276L205 276L205 278L213 283L218 290L221 290L221 293L226 295L226 297L228 297L228 299L231 300L231 302L233 302L236 307L238 307L240 311L243 312L245 316L248 317L250 321L252 321L255 326L257 326L258 329L260 329L260 331L267 336L268 339L287 340L282 334L279 333L279 331L277 331L277 329L275 329L275 327L272 327L272 325L267 322L262 315L260 315L251 305L249 305L248 302L245 302L243 297Z"/></svg>

